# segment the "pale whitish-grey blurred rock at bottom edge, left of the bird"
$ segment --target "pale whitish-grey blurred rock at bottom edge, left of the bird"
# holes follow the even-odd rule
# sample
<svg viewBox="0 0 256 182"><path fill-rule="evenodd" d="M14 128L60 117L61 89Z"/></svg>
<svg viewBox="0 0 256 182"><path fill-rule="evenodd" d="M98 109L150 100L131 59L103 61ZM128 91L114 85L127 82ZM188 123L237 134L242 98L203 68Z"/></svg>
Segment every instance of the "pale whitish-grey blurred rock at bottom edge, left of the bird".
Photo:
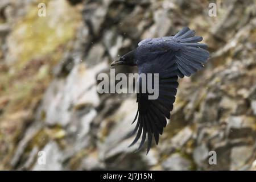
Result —
<svg viewBox="0 0 256 182"><path fill-rule="evenodd" d="M32 168L33 171L60 171L63 169L62 152L56 142L49 142L42 151L46 154L46 164L37 162Z"/></svg>

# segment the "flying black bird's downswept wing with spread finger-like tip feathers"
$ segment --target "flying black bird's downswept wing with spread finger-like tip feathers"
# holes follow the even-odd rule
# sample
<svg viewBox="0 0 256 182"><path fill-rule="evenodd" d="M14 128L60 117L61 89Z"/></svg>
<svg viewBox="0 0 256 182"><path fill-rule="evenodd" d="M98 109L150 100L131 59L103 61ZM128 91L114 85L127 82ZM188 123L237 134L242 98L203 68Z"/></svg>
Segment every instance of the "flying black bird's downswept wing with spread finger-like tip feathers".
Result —
<svg viewBox="0 0 256 182"><path fill-rule="evenodd" d="M161 60L161 61L159 61ZM137 93L138 111L133 123L138 118L137 125L133 131L133 134L137 132L134 141L130 144L135 144L142 135L141 144L138 150L141 150L146 137L147 137L147 153L150 151L153 138L156 144L159 142L159 135L163 134L163 128L166 127L166 118L170 119L170 111L173 109L175 101L175 95L177 93L177 64L174 59L168 59L166 55L157 57L156 64L151 67L139 68L139 74L142 73L158 73L159 86L158 86L158 98L156 100L150 100L148 96L151 94ZM154 64L154 63L152 63ZM146 77L148 79L148 77ZM152 84L154 85L154 77L152 76ZM139 80L140 90L142 81ZM146 80L147 82L148 80Z"/></svg>

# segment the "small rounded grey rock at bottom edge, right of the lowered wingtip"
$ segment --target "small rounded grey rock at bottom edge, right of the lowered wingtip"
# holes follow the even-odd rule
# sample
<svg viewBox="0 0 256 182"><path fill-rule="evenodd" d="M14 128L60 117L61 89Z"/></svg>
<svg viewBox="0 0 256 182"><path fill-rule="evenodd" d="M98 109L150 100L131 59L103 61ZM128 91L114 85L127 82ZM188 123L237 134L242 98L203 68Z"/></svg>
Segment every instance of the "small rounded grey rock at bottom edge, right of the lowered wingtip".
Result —
<svg viewBox="0 0 256 182"><path fill-rule="evenodd" d="M191 168L191 162L176 153L164 160L162 167L170 171L187 171Z"/></svg>

